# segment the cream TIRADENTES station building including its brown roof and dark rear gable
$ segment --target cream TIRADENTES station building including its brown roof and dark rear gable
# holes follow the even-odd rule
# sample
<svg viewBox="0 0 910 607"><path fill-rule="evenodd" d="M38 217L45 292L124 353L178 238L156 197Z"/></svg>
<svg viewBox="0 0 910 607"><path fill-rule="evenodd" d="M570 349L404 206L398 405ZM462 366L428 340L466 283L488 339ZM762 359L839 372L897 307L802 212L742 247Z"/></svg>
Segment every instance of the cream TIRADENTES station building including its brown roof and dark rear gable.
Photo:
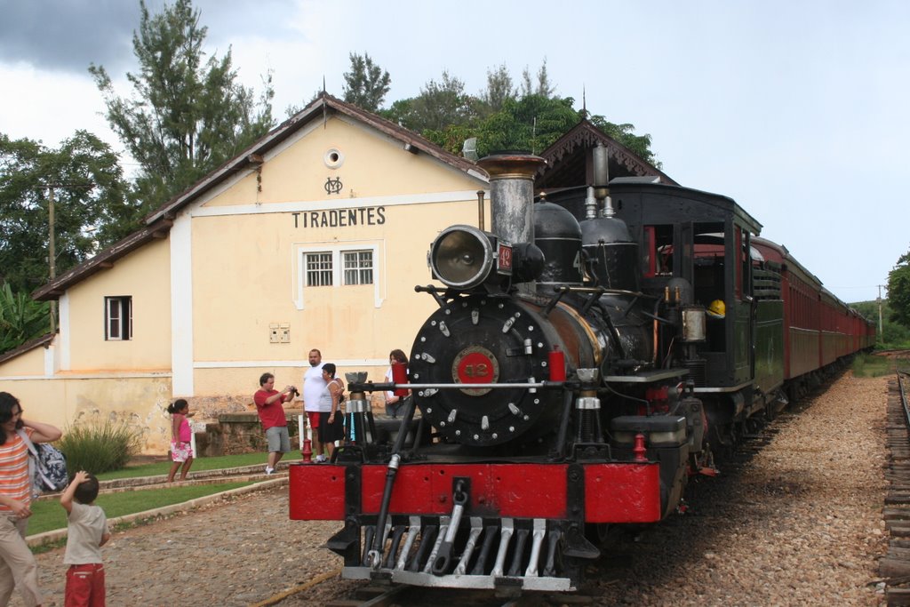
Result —
<svg viewBox="0 0 910 607"><path fill-rule="evenodd" d="M541 156L540 187L669 177L581 121ZM413 132L325 93L43 288L59 330L0 356L0 389L37 420L144 431L166 452L167 405L197 420L248 410L263 372L298 387L308 351L381 381L437 304L427 250L452 224L490 226L488 177ZM481 216L485 216L481 219Z"/></svg>

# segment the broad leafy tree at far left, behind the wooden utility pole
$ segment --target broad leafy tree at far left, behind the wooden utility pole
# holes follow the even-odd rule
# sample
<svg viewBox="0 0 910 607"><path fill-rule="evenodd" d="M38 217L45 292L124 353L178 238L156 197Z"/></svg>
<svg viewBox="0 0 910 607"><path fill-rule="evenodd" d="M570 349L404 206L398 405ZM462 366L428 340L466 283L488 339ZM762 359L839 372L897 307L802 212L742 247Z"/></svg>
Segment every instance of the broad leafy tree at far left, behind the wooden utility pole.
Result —
<svg viewBox="0 0 910 607"><path fill-rule="evenodd" d="M136 228L114 151L76 131L51 149L0 134L0 282L31 292L49 277L49 201L54 196L57 275Z"/></svg>

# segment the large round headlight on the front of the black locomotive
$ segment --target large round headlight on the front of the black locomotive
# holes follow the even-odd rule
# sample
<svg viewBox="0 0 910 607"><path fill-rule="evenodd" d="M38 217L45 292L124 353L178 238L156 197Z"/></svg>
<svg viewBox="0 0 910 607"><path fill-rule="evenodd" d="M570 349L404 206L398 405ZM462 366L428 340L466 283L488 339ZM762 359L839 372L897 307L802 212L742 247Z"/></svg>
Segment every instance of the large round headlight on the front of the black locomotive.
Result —
<svg viewBox="0 0 910 607"><path fill-rule="evenodd" d="M447 287L475 288L490 278L499 248L496 236L489 232L451 226L442 230L430 247L430 269Z"/></svg>

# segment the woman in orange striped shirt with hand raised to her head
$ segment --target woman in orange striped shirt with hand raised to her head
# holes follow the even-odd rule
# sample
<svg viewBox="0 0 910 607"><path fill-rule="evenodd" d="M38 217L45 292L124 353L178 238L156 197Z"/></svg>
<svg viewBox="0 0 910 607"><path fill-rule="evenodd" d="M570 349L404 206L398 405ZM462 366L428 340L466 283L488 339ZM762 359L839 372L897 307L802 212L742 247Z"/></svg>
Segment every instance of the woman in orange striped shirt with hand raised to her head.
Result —
<svg viewBox="0 0 910 607"><path fill-rule="evenodd" d="M28 446L19 430L32 442L51 442L61 436L55 426L24 420L19 400L0 392L0 605L9 602L16 587L26 607L34 607L42 598L37 563L25 543L32 515L32 479Z"/></svg>

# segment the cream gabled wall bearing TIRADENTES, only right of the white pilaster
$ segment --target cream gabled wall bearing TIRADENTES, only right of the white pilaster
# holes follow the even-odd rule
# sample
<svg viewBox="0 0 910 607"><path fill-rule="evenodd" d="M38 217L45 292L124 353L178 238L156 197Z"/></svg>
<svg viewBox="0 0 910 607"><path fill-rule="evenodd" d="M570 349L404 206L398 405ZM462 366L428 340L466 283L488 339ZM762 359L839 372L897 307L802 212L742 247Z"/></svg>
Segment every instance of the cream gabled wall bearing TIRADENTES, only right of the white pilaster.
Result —
<svg viewBox="0 0 910 607"><path fill-rule="evenodd" d="M324 162L330 149L344 157L338 168ZM329 177L342 180L341 196L327 194ZM381 379L385 366L365 361L387 360L393 348L410 351L437 307L429 295L414 293L415 285L431 282L430 242L453 223L476 224L483 182L330 118L326 128L320 123L268 157L261 192L257 183L256 174L240 178L202 205L209 215L193 218L194 357L206 365L195 371L196 394L251 394L266 370L278 383L299 383L311 348L341 372L369 370ZM434 195L449 192L461 194L436 201ZM219 208L226 214L211 215ZM321 219L339 209L369 210L374 220L313 226L314 214ZM374 284L302 287L302 251L336 248L375 248ZM288 343L269 342L271 324L288 325ZM237 366L212 369L217 361Z"/></svg>

